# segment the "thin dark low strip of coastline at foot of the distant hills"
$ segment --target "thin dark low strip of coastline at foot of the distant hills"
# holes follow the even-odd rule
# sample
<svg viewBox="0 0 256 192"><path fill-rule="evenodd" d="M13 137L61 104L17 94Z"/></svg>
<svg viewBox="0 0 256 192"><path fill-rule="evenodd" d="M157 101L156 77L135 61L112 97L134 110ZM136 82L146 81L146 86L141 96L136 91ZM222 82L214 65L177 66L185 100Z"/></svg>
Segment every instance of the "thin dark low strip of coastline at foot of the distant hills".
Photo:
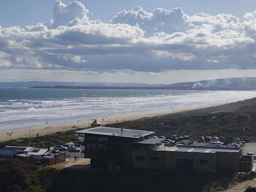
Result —
<svg viewBox="0 0 256 192"><path fill-rule="evenodd" d="M55 85L55 86L34 86L28 89L159 89L159 90L201 90L201 91L253 91L256 89L247 88L223 88L223 87L100 87L100 86L69 86L69 85Z"/></svg>

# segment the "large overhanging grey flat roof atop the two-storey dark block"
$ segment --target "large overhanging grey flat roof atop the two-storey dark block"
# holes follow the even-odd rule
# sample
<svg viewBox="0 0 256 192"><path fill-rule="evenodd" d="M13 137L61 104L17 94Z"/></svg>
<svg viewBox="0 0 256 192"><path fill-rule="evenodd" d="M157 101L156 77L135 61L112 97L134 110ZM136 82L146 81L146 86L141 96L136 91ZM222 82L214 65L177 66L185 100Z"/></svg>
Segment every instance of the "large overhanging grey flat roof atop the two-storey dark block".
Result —
<svg viewBox="0 0 256 192"><path fill-rule="evenodd" d="M121 128L114 127L93 127L89 129L83 129L80 131L75 131L76 133L87 133L95 135L109 135L117 137L130 137L130 138L140 138L146 135L155 133L154 131L142 131L135 129L123 129L123 134L121 135Z"/></svg>

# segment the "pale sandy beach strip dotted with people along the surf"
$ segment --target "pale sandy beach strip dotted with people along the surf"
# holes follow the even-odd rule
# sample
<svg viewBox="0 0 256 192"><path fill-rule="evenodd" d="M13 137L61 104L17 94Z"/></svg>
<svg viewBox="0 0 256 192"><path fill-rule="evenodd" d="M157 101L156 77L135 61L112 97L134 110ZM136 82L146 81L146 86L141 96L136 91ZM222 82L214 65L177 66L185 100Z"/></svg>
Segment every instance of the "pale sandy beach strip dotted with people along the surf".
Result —
<svg viewBox="0 0 256 192"><path fill-rule="evenodd" d="M158 112L148 112L148 113L132 113L132 114L127 114L127 115L120 115L120 116L108 116L107 118L104 118L104 121L102 121L103 117L97 119L101 125L105 124L110 124L110 123L117 123L117 122L122 122L122 121L131 121L135 119L140 119L143 117L153 117L153 116L161 116L165 114L170 114L170 113L177 113L181 111L187 111L187 110L194 110L194 109L200 109L200 108L207 108L207 107L212 107L212 106L217 106L217 105L223 105L221 104L211 104L211 105L201 105L198 107L193 107L193 108L182 108L182 109L170 109L167 111L158 111ZM116 121L118 120L118 121ZM76 119L73 120L73 122L69 124L53 124L53 125L42 125L42 126L33 126L31 127L24 127L20 129L7 129L7 130L0 130L0 142L1 141L7 141L11 139L17 139L20 137L29 137L29 129L30 129L30 136L31 137L36 137L37 134L39 136L42 135L47 135L51 133L56 133L60 131L68 131L68 130L76 130L77 128L88 128L88 125L92 123L92 119L88 120L81 120L80 122L76 122ZM76 128L72 128L73 126L76 126ZM48 128L47 128L48 126ZM50 128L49 128L50 126ZM46 127L46 129L45 129ZM7 133L12 133L11 137L7 135Z"/></svg>

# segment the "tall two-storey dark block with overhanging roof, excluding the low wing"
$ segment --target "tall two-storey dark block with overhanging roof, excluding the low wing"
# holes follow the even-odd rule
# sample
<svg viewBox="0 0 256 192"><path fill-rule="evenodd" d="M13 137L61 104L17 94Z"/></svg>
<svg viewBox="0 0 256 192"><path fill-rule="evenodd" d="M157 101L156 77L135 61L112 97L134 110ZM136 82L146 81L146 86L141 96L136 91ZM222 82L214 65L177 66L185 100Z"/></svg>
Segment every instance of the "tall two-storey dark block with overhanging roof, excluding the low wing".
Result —
<svg viewBox="0 0 256 192"><path fill-rule="evenodd" d="M132 143L148 139L151 131L94 127L76 131L85 134L85 158L91 158L91 167L107 168L108 165L132 166Z"/></svg>

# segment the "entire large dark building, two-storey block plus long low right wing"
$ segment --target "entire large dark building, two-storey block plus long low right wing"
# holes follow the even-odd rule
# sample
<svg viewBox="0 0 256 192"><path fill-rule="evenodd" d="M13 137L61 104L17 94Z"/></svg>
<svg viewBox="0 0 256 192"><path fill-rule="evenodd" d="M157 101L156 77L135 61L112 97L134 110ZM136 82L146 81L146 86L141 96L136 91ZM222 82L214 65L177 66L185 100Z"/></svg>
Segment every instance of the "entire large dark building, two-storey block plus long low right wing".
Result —
<svg viewBox="0 0 256 192"><path fill-rule="evenodd" d="M85 134L84 157L91 158L93 168L239 171L241 148L162 144L164 139L151 137L155 132L112 127L77 132Z"/></svg>

